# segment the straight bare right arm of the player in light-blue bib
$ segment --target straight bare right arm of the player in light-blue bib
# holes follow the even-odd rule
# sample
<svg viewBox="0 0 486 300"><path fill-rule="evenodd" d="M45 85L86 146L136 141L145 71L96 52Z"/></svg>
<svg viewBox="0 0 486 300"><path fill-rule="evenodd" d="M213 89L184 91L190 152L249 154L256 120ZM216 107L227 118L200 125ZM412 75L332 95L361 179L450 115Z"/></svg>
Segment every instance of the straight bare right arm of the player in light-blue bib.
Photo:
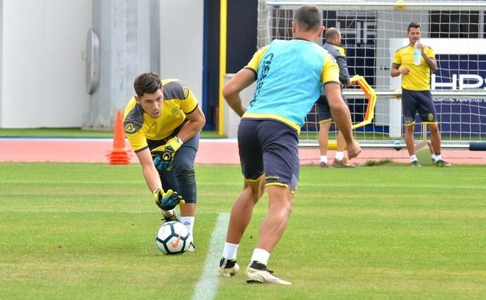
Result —
<svg viewBox="0 0 486 300"><path fill-rule="evenodd" d="M353 158L361 152L360 146L355 143L351 132L351 114L349 107L341 97L341 87L337 83L329 83L324 86L327 102L331 108L331 114L341 133L343 133L348 149L348 157Z"/></svg>

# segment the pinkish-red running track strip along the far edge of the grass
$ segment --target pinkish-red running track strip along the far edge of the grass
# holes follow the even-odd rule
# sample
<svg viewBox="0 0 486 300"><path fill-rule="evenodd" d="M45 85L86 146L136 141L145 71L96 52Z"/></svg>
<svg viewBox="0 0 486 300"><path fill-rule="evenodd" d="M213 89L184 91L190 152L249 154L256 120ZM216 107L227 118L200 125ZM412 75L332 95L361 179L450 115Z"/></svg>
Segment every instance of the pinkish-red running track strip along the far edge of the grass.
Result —
<svg viewBox="0 0 486 300"><path fill-rule="evenodd" d="M112 149L110 139L0 139L0 162L107 162ZM127 143L128 145L128 143ZM319 150L299 150L301 164L319 164ZM138 162L129 148L132 163ZM328 152L334 157L334 151ZM485 151L442 150L442 157L452 164L486 164ZM352 159L355 164L368 160L392 159L408 163L407 150L364 149ZM196 164L239 164L238 147L234 139L202 139L197 152Z"/></svg>

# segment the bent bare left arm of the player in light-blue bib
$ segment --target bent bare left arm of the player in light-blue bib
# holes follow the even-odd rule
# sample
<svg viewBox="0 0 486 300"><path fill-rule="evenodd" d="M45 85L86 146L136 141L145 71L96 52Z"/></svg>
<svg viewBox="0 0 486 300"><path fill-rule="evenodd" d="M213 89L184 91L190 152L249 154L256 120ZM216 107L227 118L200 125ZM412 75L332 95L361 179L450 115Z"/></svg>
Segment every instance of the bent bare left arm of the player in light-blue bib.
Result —
<svg viewBox="0 0 486 300"><path fill-rule="evenodd" d="M239 117L242 117L244 112L247 111L247 107L243 105L242 99L239 97L239 92L252 84L255 80L256 76L253 71L242 69L239 70L239 72L237 72L223 88L223 97Z"/></svg>

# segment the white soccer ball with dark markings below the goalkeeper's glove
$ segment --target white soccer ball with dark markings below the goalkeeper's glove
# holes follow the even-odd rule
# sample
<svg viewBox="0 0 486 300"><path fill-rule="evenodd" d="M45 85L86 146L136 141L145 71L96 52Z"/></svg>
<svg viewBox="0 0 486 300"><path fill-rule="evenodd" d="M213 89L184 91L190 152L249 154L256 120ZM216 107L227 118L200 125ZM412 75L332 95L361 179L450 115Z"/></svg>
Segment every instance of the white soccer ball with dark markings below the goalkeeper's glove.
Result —
<svg viewBox="0 0 486 300"><path fill-rule="evenodd" d="M157 248L164 254L180 254L188 250L192 235L183 223L171 221L164 223L155 236Z"/></svg>

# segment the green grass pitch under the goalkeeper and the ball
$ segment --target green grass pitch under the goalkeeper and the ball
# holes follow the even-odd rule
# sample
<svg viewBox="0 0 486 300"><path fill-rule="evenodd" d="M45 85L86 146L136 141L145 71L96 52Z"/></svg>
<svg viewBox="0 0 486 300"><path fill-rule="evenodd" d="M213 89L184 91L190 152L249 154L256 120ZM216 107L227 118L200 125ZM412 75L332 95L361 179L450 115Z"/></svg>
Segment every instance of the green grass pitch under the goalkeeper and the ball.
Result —
<svg viewBox="0 0 486 300"><path fill-rule="evenodd" d="M0 163L0 298L204 299L194 293L211 233L242 176L196 171L197 250L164 256L138 164ZM269 262L293 285L247 285L240 272L215 299L484 299L485 182L482 166L303 167ZM239 247L243 270L267 203Z"/></svg>

